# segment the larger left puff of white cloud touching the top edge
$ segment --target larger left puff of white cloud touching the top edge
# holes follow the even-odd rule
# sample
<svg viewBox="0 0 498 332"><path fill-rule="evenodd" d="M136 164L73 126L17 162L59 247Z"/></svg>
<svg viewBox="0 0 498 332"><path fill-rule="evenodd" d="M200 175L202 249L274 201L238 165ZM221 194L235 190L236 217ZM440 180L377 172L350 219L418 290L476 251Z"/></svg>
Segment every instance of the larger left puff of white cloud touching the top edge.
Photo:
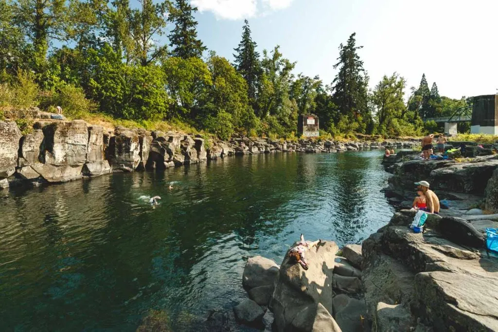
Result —
<svg viewBox="0 0 498 332"><path fill-rule="evenodd" d="M216 17L241 19L256 14L256 0L192 0L199 11L212 11Z"/></svg>

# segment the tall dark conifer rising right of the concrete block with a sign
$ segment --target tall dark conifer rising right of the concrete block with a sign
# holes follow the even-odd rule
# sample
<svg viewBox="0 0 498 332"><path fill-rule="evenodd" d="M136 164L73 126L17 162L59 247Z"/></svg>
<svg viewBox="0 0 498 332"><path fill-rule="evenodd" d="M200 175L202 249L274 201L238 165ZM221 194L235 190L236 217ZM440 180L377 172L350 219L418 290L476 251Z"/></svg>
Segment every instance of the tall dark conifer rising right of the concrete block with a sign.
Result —
<svg viewBox="0 0 498 332"><path fill-rule="evenodd" d="M346 45L339 46L339 62L334 69L339 73L332 82L333 101L339 111L351 120L361 122L361 117L368 115L368 76L363 68L356 46L356 33L351 34Z"/></svg>

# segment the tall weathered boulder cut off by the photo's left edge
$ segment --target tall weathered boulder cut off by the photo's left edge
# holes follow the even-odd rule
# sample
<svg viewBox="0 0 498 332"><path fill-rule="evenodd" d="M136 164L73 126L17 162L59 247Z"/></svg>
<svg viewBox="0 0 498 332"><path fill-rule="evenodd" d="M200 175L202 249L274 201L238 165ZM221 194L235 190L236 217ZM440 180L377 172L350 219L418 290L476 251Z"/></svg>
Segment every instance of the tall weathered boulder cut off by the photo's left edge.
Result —
<svg viewBox="0 0 498 332"><path fill-rule="evenodd" d="M15 172L21 131L15 122L0 121L0 179Z"/></svg>

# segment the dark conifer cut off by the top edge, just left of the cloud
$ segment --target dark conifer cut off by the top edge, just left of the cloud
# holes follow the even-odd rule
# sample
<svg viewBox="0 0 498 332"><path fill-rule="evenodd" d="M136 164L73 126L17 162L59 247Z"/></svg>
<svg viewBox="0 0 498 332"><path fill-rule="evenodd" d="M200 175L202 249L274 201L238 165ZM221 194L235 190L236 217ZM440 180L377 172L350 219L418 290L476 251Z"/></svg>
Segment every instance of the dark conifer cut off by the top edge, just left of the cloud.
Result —
<svg viewBox="0 0 498 332"><path fill-rule="evenodd" d="M197 21L192 15L197 7L192 7L187 0L176 0L176 5L170 8L168 20L175 28L168 35L170 46L174 47L172 56L183 59L200 58L207 48L197 39Z"/></svg>

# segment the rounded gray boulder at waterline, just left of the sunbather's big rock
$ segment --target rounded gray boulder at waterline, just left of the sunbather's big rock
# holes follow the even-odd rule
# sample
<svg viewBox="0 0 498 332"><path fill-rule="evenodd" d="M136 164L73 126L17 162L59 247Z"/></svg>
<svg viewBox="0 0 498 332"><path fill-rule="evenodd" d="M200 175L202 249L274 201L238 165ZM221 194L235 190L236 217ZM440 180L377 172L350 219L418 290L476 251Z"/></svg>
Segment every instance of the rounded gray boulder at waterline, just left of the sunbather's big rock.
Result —
<svg viewBox="0 0 498 332"><path fill-rule="evenodd" d="M242 285L246 289L273 285L278 276L278 265L271 259L255 256L249 257L244 273Z"/></svg>

